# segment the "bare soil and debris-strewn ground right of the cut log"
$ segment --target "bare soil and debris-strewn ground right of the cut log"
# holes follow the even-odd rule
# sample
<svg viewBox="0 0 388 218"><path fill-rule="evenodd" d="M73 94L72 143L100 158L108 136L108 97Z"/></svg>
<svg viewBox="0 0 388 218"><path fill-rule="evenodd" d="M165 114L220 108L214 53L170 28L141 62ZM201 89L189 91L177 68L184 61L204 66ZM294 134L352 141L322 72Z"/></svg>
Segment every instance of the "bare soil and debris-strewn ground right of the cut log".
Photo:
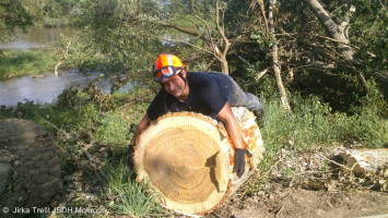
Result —
<svg viewBox="0 0 388 218"><path fill-rule="evenodd" d="M348 149L281 150L269 180L255 192L242 189L205 218L387 217L383 175L346 170L339 153ZM260 175L257 175L260 177ZM257 178L250 178L255 181ZM247 187L246 187L247 189Z"/></svg>

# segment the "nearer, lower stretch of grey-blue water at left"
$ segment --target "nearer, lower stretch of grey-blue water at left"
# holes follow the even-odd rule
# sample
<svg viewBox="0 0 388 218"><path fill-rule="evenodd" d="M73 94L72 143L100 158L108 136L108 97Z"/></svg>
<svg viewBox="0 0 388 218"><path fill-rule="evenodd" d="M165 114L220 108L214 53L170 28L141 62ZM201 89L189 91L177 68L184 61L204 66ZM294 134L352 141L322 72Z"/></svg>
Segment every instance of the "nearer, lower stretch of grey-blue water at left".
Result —
<svg viewBox="0 0 388 218"><path fill-rule="evenodd" d="M101 72L78 72L72 70L61 73L59 76L54 74L46 75L42 78L33 78L33 76L24 76L0 81L0 106L15 106L23 102L24 99L40 104L54 102L58 95L67 87L84 88L93 80L97 78ZM103 94L110 93L113 83L108 75L102 78L97 84ZM118 92L128 92L133 88L132 83L122 86Z"/></svg>

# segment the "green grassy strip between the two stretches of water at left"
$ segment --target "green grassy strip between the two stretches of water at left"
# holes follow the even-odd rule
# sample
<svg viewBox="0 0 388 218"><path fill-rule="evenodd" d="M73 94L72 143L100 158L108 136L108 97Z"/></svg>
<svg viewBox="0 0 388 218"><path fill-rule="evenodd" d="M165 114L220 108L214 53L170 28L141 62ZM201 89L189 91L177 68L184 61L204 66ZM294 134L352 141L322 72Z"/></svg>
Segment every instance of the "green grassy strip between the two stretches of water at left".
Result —
<svg viewBox="0 0 388 218"><path fill-rule="evenodd" d="M5 51L0 57L0 80L54 71L57 62L52 51Z"/></svg>

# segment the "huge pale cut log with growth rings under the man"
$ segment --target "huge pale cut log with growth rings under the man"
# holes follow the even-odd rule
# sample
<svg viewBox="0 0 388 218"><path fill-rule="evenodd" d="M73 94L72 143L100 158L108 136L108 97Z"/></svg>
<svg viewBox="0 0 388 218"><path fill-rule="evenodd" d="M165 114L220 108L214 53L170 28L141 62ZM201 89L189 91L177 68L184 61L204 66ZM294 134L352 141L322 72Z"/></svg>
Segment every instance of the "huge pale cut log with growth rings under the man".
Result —
<svg viewBox="0 0 388 218"><path fill-rule="evenodd" d="M264 150L255 116L232 108L243 133L247 165L242 178L233 173L234 148L223 124L193 112L167 113L138 137L134 169L138 181L149 181L178 214L212 211L254 174Z"/></svg>

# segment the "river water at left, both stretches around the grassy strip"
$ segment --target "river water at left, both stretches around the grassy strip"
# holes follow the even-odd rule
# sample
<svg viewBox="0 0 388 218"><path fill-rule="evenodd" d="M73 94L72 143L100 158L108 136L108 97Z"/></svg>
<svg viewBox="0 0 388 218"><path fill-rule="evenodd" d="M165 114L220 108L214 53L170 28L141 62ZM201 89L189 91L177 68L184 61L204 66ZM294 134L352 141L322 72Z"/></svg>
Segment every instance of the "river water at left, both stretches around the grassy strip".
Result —
<svg viewBox="0 0 388 218"><path fill-rule="evenodd" d="M20 51L47 49L50 43L60 40L61 34L71 36L72 33L73 29L70 27L36 28L27 34L19 31L17 37L10 44L0 45L0 49ZM60 71L59 76L55 76L54 72L47 72L46 76L38 78L23 76L0 81L0 106L15 106L17 102L24 102L25 100L34 101L35 104L52 104L64 88L70 86L83 88L101 74L101 72L66 70ZM102 82L97 84L103 94L110 93L111 85L108 74L105 74ZM133 85L128 83L118 92L128 92L132 87Z"/></svg>

